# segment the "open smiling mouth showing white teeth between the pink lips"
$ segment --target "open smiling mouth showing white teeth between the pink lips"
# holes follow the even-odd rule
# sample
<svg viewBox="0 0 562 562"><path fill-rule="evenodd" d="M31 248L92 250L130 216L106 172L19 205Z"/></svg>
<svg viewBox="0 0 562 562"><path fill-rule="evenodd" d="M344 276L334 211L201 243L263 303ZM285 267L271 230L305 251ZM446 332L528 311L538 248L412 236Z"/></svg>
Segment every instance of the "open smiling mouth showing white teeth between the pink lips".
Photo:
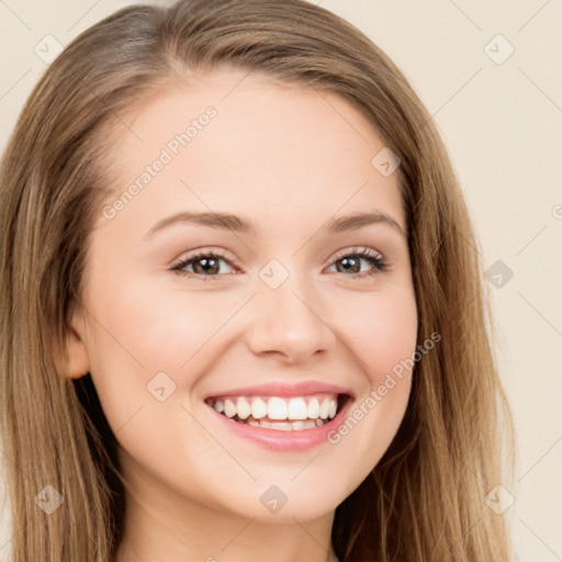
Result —
<svg viewBox="0 0 562 562"><path fill-rule="evenodd" d="M349 394L321 392L302 396L211 396L205 403L240 425L277 431L306 431L328 424L350 400Z"/></svg>

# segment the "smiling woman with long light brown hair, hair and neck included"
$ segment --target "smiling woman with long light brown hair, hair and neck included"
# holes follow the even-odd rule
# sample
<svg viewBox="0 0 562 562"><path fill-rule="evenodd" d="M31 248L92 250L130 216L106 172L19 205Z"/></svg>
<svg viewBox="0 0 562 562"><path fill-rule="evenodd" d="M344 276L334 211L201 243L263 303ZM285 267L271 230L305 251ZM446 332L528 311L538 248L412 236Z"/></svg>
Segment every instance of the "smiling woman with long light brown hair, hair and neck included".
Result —
<svg viewBox="0 0 562 562"><path fill-rule="evenodd" d="M48 68L1 186L13 560L507 559L475 235L357 29L123 9Z"/></svg>

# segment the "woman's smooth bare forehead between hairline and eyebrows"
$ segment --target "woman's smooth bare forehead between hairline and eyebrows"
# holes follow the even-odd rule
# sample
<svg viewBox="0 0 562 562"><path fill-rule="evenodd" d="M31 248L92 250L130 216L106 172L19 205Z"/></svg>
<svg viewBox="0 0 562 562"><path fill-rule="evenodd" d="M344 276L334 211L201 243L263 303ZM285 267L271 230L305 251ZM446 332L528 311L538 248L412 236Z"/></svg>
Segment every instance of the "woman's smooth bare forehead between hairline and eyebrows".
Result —
<svg viewBox="0 0 562 562"><path fill-rule="evenodd" d="M119 216L143 234L170 213L213 210L284 232L378 210L406 229L397 173L372 165L384 140L333 92L213 71L135 106L112 136L112 201L136 184Z"/></svg>

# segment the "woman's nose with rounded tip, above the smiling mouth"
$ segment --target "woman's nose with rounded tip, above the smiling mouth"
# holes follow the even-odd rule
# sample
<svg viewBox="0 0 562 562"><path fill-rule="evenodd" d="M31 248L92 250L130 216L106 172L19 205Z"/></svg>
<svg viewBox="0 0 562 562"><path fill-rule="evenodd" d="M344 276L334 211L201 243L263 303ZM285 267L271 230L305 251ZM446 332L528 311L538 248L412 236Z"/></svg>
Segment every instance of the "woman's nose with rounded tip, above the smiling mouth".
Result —
<svg viewBox="0 0 562 562"><path fill-rule="evenodd" d="M295 276L272 289L259 281L248 345L256 355L280 356L288 363L306 361L333 348L336 336L326 307L313 288Z"/></svg>

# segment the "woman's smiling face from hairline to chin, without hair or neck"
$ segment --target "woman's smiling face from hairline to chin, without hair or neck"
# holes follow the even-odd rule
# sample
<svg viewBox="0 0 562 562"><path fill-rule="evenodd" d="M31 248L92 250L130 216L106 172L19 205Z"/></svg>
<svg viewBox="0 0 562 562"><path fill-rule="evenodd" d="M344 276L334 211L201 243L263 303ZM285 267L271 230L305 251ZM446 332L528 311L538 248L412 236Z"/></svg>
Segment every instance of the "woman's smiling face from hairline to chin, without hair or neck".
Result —
<svg viewBox="0 0 562 562"><path fill-rule="evenodd" d="M353 105L245 75L201 76L114 126L72 353L140 496L302 520L363 481L403 418L407 225Z"/></svg>

